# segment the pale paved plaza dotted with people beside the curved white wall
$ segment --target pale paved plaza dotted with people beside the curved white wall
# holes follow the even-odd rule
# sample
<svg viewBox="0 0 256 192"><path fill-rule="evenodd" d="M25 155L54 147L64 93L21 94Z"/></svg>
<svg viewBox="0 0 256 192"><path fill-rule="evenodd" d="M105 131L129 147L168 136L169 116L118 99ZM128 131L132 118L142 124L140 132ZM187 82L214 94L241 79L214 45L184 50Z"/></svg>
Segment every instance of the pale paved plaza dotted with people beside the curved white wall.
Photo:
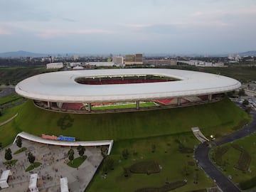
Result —
<svg viewBox="0 0 256 192"><path fill-rule="evenodd" d="M102 161L100 148L86 147L85 155L87 159L79 167L73 169L67 165L68 150L70 146L52 146L47 144L38 144L23 139L23 146L27 147L26 152L14 154L18 150L16 144L8 146L13 152L13 159L18 159L15 166L11 166L12 176L9 177L9 188L2 189L3 192L25 192L28 191L28 183L30 174L38 174L38 188L41 192L58 192L60 191L60 178L68 178L68 187L73 192L83 192L90 183L92 177L97 171ZM75 158L78 157L76 147ZM0 171L9 169L3 162L4 149L0 151ZM31 171L26 172L25 169L30 165L27 159L28 151L36 156L36 161L42 165Z"/></svg>

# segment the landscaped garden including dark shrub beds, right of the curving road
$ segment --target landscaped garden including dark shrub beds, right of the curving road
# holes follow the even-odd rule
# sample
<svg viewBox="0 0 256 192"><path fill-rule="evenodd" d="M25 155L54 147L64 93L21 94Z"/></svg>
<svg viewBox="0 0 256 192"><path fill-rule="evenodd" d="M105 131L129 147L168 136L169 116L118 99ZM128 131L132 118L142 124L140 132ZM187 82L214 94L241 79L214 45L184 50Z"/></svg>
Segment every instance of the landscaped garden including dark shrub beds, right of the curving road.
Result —
<svg viewBox="0 0 256 192"><path fill-rule="evenodd" d="M213 148L210 157L241 189L256 187L256 134Z"/></svg>

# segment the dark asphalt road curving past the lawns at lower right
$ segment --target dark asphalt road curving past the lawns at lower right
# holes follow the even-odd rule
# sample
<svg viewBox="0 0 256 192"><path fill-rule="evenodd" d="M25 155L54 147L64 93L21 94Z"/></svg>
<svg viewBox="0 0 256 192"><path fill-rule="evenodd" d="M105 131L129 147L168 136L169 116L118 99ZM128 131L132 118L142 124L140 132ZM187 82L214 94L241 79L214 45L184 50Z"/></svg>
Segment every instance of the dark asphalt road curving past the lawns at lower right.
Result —
<svg viewBox="0 0 256 192"><path fill-rule="evenodd" d="M199 166L210 176L210 178L215 181L217 186L223 192L236 192L240 191L238 186L235 186L232 181L230 181L220 170L218 170L215 165L209 159L209 151L210 146L218 146L221 144L226 144L229 142L233 142L237 139L241 139L242 137L246 137L253 132L256 131L256 112L252 111L252 122L247 124L243 129L240 129L232 134L228 134L224 137L220 137L211 142L205 142L203 144L199 144L195 151L195 158L198 161Z"/></svg>

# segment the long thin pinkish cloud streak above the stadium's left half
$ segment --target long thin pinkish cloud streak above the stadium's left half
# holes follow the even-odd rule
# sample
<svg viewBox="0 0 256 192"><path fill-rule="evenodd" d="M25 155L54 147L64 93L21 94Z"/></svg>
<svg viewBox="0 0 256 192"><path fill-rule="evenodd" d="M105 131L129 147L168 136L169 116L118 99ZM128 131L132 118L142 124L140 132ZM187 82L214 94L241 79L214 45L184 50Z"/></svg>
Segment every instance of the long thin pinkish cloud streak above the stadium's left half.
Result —
<svg viewBox="0 0 256 192"><path fill-rule="evenodd" d="M37 36L41 38L55 38L58 36L68 36L68 35L80 35L80 34L113 34L114 31L107 31L103 29L82 29L82 30L62 30L62 29L48 29L43 31L38 31Z"/></svg>

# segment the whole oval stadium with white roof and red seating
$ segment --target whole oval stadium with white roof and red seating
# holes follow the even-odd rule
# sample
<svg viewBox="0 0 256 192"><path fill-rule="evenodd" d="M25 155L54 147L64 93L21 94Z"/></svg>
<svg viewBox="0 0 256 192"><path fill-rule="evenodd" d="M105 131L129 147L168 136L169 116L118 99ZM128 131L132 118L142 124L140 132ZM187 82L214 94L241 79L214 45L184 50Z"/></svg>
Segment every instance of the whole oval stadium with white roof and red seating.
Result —
<svg viewBox="0 0 256 192"><path fill-rule="evenodd" d="M92 114L215 102L240 85L210 73L136 68L43 73L19 82L16 92L46 110Z"/></svg>

